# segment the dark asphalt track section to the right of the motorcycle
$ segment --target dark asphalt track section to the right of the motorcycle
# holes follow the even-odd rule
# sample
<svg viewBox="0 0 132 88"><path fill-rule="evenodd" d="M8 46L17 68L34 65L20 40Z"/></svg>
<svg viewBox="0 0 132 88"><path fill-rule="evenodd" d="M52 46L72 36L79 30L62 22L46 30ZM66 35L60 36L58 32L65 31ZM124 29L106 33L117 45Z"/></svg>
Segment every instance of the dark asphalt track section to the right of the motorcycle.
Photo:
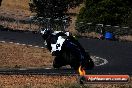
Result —
<svg viewBox="0 0 132 88"><path fill-rule="evenodd" d="M92 72L132 74L132 42L80 39L92 55L107 59L108 63L95 67Z"/></svg>

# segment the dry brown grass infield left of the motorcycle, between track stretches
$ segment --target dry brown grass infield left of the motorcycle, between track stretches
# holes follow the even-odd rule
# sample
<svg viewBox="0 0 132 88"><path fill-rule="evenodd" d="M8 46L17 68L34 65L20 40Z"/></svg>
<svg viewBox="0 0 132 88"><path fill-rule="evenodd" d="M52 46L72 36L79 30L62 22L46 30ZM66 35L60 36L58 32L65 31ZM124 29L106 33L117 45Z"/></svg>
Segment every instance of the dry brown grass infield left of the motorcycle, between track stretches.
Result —
<svg viewBox="0 0 132 88"><path fill-rule="evenodd" d="M0 43L0 67L52 66L53 57L47 49Z"/></svg>

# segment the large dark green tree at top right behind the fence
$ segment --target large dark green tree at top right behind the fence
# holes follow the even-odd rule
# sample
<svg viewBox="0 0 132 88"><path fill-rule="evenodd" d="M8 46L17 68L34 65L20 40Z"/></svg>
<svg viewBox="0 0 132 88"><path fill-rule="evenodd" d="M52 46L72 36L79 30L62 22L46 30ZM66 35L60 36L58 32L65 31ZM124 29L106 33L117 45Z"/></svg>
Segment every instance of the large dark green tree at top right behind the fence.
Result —
<svg viewBox="0 0 132 88"><path fill-rule="evenodd" d="M131 26L131 3L131 0L85 0L77 21Z"/></svg>

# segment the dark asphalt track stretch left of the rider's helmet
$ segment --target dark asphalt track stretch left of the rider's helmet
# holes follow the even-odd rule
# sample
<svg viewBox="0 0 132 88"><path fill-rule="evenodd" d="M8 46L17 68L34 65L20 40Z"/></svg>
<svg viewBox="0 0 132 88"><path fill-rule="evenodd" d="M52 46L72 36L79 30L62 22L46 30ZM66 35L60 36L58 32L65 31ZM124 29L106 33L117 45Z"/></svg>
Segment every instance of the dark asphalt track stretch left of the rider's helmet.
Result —
<svg viewBox="0 0 132 88"><path fill-rule="evenodd" d="M0 41L14 42L26 45L43 47L43 39L40 34L33 32L17 32L0 30Z"/></svg>

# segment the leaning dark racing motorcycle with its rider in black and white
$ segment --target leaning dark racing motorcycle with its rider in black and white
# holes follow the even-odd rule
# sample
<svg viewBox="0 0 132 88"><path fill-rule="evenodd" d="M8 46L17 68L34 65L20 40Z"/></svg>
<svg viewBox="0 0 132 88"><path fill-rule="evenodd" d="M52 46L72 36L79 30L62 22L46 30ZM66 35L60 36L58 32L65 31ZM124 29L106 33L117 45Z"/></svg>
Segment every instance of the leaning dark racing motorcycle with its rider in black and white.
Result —
<svg viewBox="0 0 132 88"><path fill-rule="evenodd" d="M44 44L47 49L55 56L53 61L54 68L60 68L70 65L71 68L77 70L79 66L83 69L92 69L94 63L89 54L78 40L71 36L69 32L52 31L49 29L41 29Z"/></svg>

